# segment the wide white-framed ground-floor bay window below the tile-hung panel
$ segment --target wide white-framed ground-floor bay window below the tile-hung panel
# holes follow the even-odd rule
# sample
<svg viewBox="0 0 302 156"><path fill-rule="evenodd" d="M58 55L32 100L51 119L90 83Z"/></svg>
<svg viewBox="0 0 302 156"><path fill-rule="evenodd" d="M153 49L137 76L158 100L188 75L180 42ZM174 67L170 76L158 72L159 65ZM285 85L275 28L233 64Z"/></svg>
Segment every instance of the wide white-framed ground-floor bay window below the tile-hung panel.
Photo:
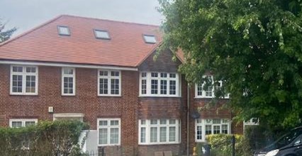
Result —
<svg viewBox="0 0 302 156"><path fill-rule="evenodd" d="M139 120L138 143L159 145L180 143L180 121L177 119Z"/></svg>

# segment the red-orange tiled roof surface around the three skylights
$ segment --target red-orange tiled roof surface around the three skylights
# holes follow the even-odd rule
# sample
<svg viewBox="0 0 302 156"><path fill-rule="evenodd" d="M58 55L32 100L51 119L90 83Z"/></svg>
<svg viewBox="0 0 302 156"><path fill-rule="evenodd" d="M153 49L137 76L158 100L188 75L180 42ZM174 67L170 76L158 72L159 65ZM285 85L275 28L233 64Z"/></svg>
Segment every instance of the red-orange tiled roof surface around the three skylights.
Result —
<svg viewBox="0 0 302 156"><path fill-rule="evenodd" d="M57 26L69 26L71 35L58 35ZM94 29L108 30L111 40L96 39ZM145 43L143 34L157 43ZM63 15L2 43L0 60L137 67L161 40L159 26Z"/></svg>

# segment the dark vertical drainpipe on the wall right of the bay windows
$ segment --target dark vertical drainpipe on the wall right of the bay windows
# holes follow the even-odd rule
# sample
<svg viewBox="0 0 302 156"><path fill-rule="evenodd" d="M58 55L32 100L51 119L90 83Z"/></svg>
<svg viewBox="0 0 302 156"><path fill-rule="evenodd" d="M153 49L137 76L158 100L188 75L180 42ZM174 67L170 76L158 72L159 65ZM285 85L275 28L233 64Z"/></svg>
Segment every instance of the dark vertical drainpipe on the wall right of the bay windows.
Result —
<svg viewBox="0 0 302 156"><path fill-rule="evenodd" d="M186 156L189 156L189 145L190 145L190 85L186 87Z"/></svg>

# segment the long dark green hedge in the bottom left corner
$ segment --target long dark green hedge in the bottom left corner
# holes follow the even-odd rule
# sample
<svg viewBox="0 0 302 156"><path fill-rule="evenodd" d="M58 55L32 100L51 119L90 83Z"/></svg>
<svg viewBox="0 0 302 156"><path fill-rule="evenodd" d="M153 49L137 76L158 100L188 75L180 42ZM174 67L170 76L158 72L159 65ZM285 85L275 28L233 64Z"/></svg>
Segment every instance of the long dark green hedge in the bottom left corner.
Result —
<svg viewBox="0 0 302 156"><path fill-rule="evenodd" d="M81 155L79 121L43 121L25 128L0 128L0 155Z"/></svg>

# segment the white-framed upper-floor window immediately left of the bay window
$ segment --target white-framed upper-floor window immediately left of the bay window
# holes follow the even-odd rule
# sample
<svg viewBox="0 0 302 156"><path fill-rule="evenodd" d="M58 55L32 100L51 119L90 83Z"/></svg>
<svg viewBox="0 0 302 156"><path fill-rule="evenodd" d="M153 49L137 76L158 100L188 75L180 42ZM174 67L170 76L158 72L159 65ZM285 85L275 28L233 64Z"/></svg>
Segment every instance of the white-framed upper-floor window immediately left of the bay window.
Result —
<svg viewBox="0 0 302 156"><path fill-rule="evenodd" d="M121 71L99 69L98 95L121 96Z"/></svg>

